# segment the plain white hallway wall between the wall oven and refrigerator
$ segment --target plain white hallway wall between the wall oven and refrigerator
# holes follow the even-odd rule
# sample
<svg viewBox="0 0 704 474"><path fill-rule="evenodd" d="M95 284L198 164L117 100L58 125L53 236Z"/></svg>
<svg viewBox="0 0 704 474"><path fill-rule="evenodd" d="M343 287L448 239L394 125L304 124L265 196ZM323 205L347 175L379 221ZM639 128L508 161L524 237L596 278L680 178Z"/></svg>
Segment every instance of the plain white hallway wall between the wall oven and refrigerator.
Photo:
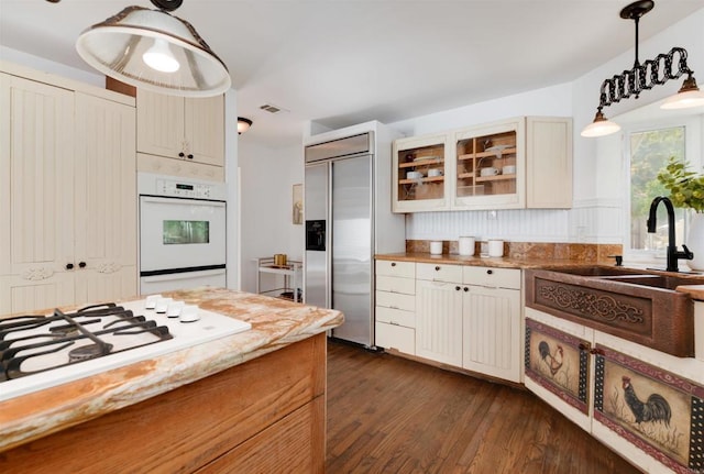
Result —
<svg viewBox="0 0 704 474"><path fill-rule="evenodd" d="M254 258L285 253L302 261L302 225L292 222L293 186L304 180L302 145L270 148L240 137L242 290L254 293ZM263 286L275 282L263 277Z"/></svg>

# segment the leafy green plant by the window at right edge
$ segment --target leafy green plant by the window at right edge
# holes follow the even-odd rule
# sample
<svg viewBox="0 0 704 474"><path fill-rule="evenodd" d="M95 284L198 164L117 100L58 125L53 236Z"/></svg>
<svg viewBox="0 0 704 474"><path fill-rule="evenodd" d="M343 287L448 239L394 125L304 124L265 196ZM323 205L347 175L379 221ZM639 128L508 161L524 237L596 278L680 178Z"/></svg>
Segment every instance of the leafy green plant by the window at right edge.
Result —
<svg viewBox="0 0 704 474"><path fill-rule="evenodd" d="M672 206L704 212L704 175L688 172L689 163L674 156L658 173L658 180L670 191Z"/></svg>

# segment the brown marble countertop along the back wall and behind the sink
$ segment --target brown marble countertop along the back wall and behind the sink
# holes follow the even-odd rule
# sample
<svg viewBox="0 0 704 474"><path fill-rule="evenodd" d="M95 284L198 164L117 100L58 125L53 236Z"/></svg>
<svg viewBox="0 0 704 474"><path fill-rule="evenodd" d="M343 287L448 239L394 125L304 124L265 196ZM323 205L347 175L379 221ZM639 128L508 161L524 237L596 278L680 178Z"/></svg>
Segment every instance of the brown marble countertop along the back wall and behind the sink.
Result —
<svg viewBox="0 0 704 474"><path fill-rule="evenodd" d="M487 266L493 268L518 268L518 269L541 269L541 268L573 268L580 266L609 266L607 264L593 264L584 261L556 260L556 258L512 258L512 257L484 257L479 255L465 256L459 254L443 253L431 255L427 252L399 252L389 254L377 254L376 260L416 263L441 263L451 265ZM613 266L613 265L612 265ZM622 268L629 268L624 266ZM644 272L642 268L634 268ZM692 285L683 285L676 288L678 291L688 293L692 298L704 301L704 276L674 274L672 272L649 271L662 275L676 275L683 278L691 278Z"/></svg>

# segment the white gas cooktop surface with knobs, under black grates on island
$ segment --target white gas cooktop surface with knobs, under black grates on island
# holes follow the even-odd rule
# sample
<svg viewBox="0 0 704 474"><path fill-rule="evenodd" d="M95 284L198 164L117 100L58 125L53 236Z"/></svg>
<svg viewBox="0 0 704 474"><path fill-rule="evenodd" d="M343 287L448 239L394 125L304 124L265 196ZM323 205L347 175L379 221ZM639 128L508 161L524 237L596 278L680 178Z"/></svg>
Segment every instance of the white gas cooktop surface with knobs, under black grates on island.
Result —
<svg viewBox="0 0 704 474"><path fill-rule="evenodd" d="M138 335L121 335L120 338L108 339L109 335L105 338L112 345L112 351L122 351L110 353L107 355L102 355L96 359L88 359L80 362L70 363L68 365L63 365L56 368L45 368L46 362L44 361L47 356L34 356L30 360L23 362L22 372L31 373L30 375L22 375L18 378L9 377L9 379L0 381L0 401L8 400L10 398L19 397L21 395L30 394L32 392L37 392L44 388L53 387L56 385L65 384L67 382L76 381L79 378L88 377L90 375L95 375L101 372L107 372L117 367L121 367L124 365L129 365L135 362L144 361L147 359L153 359L160 355L164 355L170 352L175 352L182 349L190 348L197 344L204 344L220 338L224 338L227 335L235 334L238 332L243 332L250 330L252 327L249 322L240 321L234 318L230 318L224 315L219 315L212 311L208 311L201 308L197 308L197 316L194 318L191 315L190 319L197 319L193 322L182 322L182 320L176 318L169 318L164 313L157 313L153 309L145 308L145 300L136 300L136 301L128 301L120 302L118 306L124 308L125 310L131 310L135 316L143 316L146 320L152 320L156 324L156 327L165 327L168 328L168 333L170 333L172 338L166 338L165 340L160 340L160 338L154 337L151 333L147 334L138 334ZM68 313L69 316L74 316L75 313ZM78 318L76 318L78 319ZM0 319L0 333L2 332L3 323L7 323L7 320ZM100 322L102 324L103 321ZM122 323L120 321L119 323ZM95 323L94 323L95 324ZM4 341L12 341L13 338L26 337L28 334L34 337L37 332L42 331L41 334L55 334L54 329L51 329L52 326L66 326L66 321L58 321L56 323L42 326L41 328L25 330L25 331L14 331L12 334L6 334ZM108 324L109 326L109 324ZM88 328L92 328L92 326L88 324ZM113 326L114 327L114 326ZM163 328L162 328L163 329ZM92 331L92 329L90 329ZM123 333L129 330L122 331ZM32 333L34 332L34 333ZM100 332L100 331L98 331ZM100 335L101 339L103 338ZM150 338L151 339L144 339ZM41 338L50 338L48 335L41 335ZM141 345L131 349L123 349L120 344L122 343L121 338L130 338L131 341L140 340L138 338L142 338L141 343L145 343L147 345ZM2 343L2 340L0 340ZM88 345L91 344L90 340L80 340L73 341L65 351L63 351L63 355L54 355L54 357L63 356L64 359L58 359L58 361L67 360L67 352L69 350L75 350L77 346L81 344ZM68 345L68 344L67 344ZM30 350L30 352L34 351L34 353L40 351L45 351L45 349L34 349ZM0 355L2 354L2 346L0 346ZM65 362L58 362L58 364ZM7 367L6 367L7 368ZM34 371L42 371L32 373Z"/></svg>

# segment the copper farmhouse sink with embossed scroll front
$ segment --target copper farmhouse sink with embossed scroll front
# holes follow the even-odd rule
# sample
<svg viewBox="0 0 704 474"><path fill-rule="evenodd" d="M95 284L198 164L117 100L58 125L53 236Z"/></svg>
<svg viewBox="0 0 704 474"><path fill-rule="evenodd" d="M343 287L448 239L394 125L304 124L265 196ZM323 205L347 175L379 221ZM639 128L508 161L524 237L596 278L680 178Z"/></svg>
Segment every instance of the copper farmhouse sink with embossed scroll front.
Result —
<svg viewBox="0 0 704 474"><path fill-rule="evenodd" d="M526 306L679 357L694 356L694 301L704 277L624 267L526 271Z"/></svg>

